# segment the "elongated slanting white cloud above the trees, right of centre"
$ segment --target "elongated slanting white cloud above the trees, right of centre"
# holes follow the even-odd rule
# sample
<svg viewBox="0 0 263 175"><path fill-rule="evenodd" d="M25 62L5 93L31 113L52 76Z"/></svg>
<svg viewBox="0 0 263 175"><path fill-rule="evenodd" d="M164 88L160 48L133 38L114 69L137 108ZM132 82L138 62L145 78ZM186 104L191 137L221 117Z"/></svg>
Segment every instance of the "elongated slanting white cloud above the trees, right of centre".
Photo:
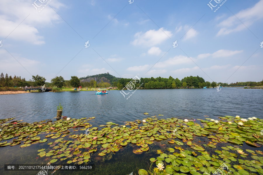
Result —
<svg viewBox="0 0 263 175"><path fill-rule="evenodd" d="M192 58L192 57L191 57L191 59L194 60L194 58ZM191 59L186 57L186 56L179 55L179 56L175 56L173 58L169 58L168 60L165 60L163 62L158 62L154 65L154 67L164 68L164 67L178 65L178 64L192 63Z"/></svg>

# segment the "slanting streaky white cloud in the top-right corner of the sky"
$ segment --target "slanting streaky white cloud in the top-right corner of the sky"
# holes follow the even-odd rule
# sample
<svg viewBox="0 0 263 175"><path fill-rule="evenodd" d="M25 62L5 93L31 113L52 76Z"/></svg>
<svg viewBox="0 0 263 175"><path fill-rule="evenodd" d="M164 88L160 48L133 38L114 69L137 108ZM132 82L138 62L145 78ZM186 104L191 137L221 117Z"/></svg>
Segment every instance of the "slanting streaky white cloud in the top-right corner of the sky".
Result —
<svg viewBox="0 0 263 175"><path fill-rule="evenodd" d="M256 21L263 18L262 13L263 0L260 0L255 6L240 10L236 15L230 16L218 24L221 29L218 31L217 36L230 34L232 32L241 31L246 29ZM242 24L240 21L244 24Z"/></svg>

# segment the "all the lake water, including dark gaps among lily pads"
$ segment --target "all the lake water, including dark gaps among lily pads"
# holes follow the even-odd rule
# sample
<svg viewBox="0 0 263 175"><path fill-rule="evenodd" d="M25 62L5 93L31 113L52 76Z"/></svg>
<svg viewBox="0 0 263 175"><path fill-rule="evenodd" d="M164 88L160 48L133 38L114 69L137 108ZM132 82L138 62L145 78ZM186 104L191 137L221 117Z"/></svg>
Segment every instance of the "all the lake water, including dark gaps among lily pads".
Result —
<svg viewBox="0 0 263 175"><path fill-rule="evenodd" d="M129 91L126 90L126 93ZM0 119L16 117L15 120L23 122L37 122L46 119L54 119L57 106L63 106L63 115L70 118L95 117L89 120L93 127L114 122L123 125L127 121L149 117L181 118L181 119L218 119L219 116L236 116L241 118L263 118L263 90L222 88L219 92L215 88L210 89L166 89L166 90L137 90L128 100L119 90L110 90L107 95L95 95L96 91L80 92L40 92L15 95L0 95ZM159 114L163 116L158 116ZM199 122L198 120L196 122ZM199 122L200 123L200 122ZM142 126L142 124L140 124ZM83 130L70 129L71 134L83 134ZM41 139L46 134L39 134ZM65 137L65 139L70 139ZM199 138L198 138L199 139ZM54 141L56 139L50 139ZM202 141L202 138L201 138ZM209 140L210 141L210 140ZM51 149L47 143L32 144L20 148L22 145L0 148L0 174L5 175L35 175L38 171L3 171L4 164L46 164L49 157L39 157L37 150ZM205 143L205 142L203 142ZM149 158L159 156L155 150L162 149L162 144L154 142L151 150L136 155L132 152L136 145L128 145L112 156L111 159L96 160L98 155L92 155L89 164L95 164L96 171L57 171L54 175L68 174L138 174L138 169L147 169ZM231 146L231 143L218 144L218 146ZM135 147L134 147L135 146ZM174 145L169 145L174 146ZM184 149L189 147L184 144ZM252 149L244 144L243 149ZM154 151L153 151L154 150ZM67 160L64 161L66 164ZM50 174L48 174L50 175Z"/></svg>

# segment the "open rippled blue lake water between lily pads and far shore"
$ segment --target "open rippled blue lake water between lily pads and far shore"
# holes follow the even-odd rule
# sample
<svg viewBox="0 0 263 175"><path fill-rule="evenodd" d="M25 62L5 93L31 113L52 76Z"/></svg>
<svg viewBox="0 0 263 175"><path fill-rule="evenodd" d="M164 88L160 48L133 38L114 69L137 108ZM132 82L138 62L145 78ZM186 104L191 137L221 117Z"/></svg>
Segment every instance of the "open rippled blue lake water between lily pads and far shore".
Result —
<svg viewBox="0 0 263 175"><path fill-rule="evenodd" d="M62 115L70 118L96 117L98 125L108 121L123 124L143 119L145 112L152 116L162 114L166 118L203 119L204 115L210 118L225 115L263 118L261 89L222 88L219 92L215 88L137 90L127 100L119 90L108 91L107 95L95 93L79 91L0 95L0 119L16 117L17 120L30 123L52 119L56 117L59 103L63 106Z"/></svg>

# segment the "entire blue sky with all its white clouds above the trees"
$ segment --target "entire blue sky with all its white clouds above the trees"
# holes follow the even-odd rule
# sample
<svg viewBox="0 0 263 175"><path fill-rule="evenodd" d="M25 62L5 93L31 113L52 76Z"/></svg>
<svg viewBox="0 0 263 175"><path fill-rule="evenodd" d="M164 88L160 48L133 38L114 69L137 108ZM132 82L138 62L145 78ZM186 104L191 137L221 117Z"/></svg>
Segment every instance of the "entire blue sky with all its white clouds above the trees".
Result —
<svg viewBox="0 0 263 175"><path fill-rule="evenodd" d="M262 81L263 0L40 1L0 0L0 72Z"/></svg>

